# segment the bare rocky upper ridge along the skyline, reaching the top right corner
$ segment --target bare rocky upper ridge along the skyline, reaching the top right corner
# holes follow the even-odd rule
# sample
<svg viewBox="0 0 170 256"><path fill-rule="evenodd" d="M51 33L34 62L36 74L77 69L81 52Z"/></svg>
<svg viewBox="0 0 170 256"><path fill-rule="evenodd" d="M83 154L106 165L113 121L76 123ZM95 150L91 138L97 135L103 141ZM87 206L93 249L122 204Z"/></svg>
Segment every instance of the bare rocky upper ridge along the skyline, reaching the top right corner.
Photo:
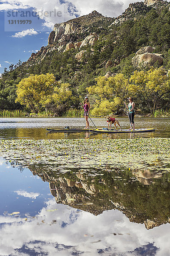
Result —
<svg viewBox="0 0 170 256"><path fill-rule="evenodd" d="M166 7L170 8L170 3L167 1L145 0L144 3L131 3L125 12L116 18L104 17L99 12L93 11L89 15L57 23L48 37L48 45L42 47L37 53L32 53L26 64L40 63L45 56L55 50L65 52L72 48L83 48L88 44L94 46L101 35L111 32L113 26L119 26L128 20L139 20L152 9L159 12Z"/></svg>

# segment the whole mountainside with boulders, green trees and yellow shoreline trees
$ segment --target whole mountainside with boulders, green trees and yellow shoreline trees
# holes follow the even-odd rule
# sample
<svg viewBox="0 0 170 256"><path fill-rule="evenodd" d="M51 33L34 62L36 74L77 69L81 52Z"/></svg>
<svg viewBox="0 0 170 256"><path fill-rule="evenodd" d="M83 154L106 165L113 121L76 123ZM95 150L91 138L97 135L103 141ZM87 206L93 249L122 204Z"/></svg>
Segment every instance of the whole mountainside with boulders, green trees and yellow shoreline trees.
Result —
<svg viewBox="0 0 170 256"><path fill-rule="evenodd" d="M31 55L27 62L19 61L4 70L0 79L0 109L46 110L61 116L69 108L78 109L79 102L88 95L94 116L123 113L127 96L133 96L136 109L145 113L168 111L169 8L170 3L166 1L148 6L141 2L131 4L117 18L92 12L56 24L48 46ZM62 29L65 34L62 32L60 36ZM29 97L28 88L20 85L41 74L54 76L54 80L49 93L41 88L43 104L37 101L32 105L31 100L39 94L39 81L34 84L34 90L30 89ZM45 88L46 80L42 79L41 83ZM62 90L69 91L69 96L56 101L53 94ZM27 94L27 102L21 99L21 94Z"/></svg>

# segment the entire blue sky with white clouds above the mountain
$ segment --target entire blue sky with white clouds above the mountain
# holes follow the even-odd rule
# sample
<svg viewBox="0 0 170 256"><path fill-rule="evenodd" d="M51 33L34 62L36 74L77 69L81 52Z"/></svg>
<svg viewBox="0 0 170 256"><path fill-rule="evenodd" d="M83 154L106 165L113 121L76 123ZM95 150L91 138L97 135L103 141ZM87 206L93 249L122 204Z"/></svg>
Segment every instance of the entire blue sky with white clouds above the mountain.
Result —
<svg viewBox="0 0 170 256"><path fill-rule="evenodd" d="M26 61L48 43L48 35L55 23L87 15L96 10L102 15L116 17L134 0L1 0L0 1L0 74L4 67ZM54 14L55 10L55 14ZM8 24L11 20L25 20L22 12L37 12L26 17L31 24ZM18 16L15 17L17 12ZM51 15L50 15L51 13ZM57 13L57 14L56 14ZM32 14L32 13L31 13ZM12 17L13 15L13 17ZM25 15L26 16L26 15ZM38 18L37 18L38 17ZM8 21L10 20L10 21Z"/></svg>

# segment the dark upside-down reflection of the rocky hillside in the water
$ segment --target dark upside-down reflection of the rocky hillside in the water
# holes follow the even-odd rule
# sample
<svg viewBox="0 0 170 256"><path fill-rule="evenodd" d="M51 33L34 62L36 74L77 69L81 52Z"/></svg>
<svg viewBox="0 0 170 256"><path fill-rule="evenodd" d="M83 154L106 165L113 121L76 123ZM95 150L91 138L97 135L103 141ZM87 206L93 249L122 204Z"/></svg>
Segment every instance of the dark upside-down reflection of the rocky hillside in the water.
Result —
<svg viewBox="0 0 170 256"><path fill-rule="evenodd" d="M144 223L147 229L170 222L169 173L121 168L70 169L61 173L51 171L49 166L28 168L49 183L51 195L59 204L94 215L118 209L131 222Z"/></svg>

